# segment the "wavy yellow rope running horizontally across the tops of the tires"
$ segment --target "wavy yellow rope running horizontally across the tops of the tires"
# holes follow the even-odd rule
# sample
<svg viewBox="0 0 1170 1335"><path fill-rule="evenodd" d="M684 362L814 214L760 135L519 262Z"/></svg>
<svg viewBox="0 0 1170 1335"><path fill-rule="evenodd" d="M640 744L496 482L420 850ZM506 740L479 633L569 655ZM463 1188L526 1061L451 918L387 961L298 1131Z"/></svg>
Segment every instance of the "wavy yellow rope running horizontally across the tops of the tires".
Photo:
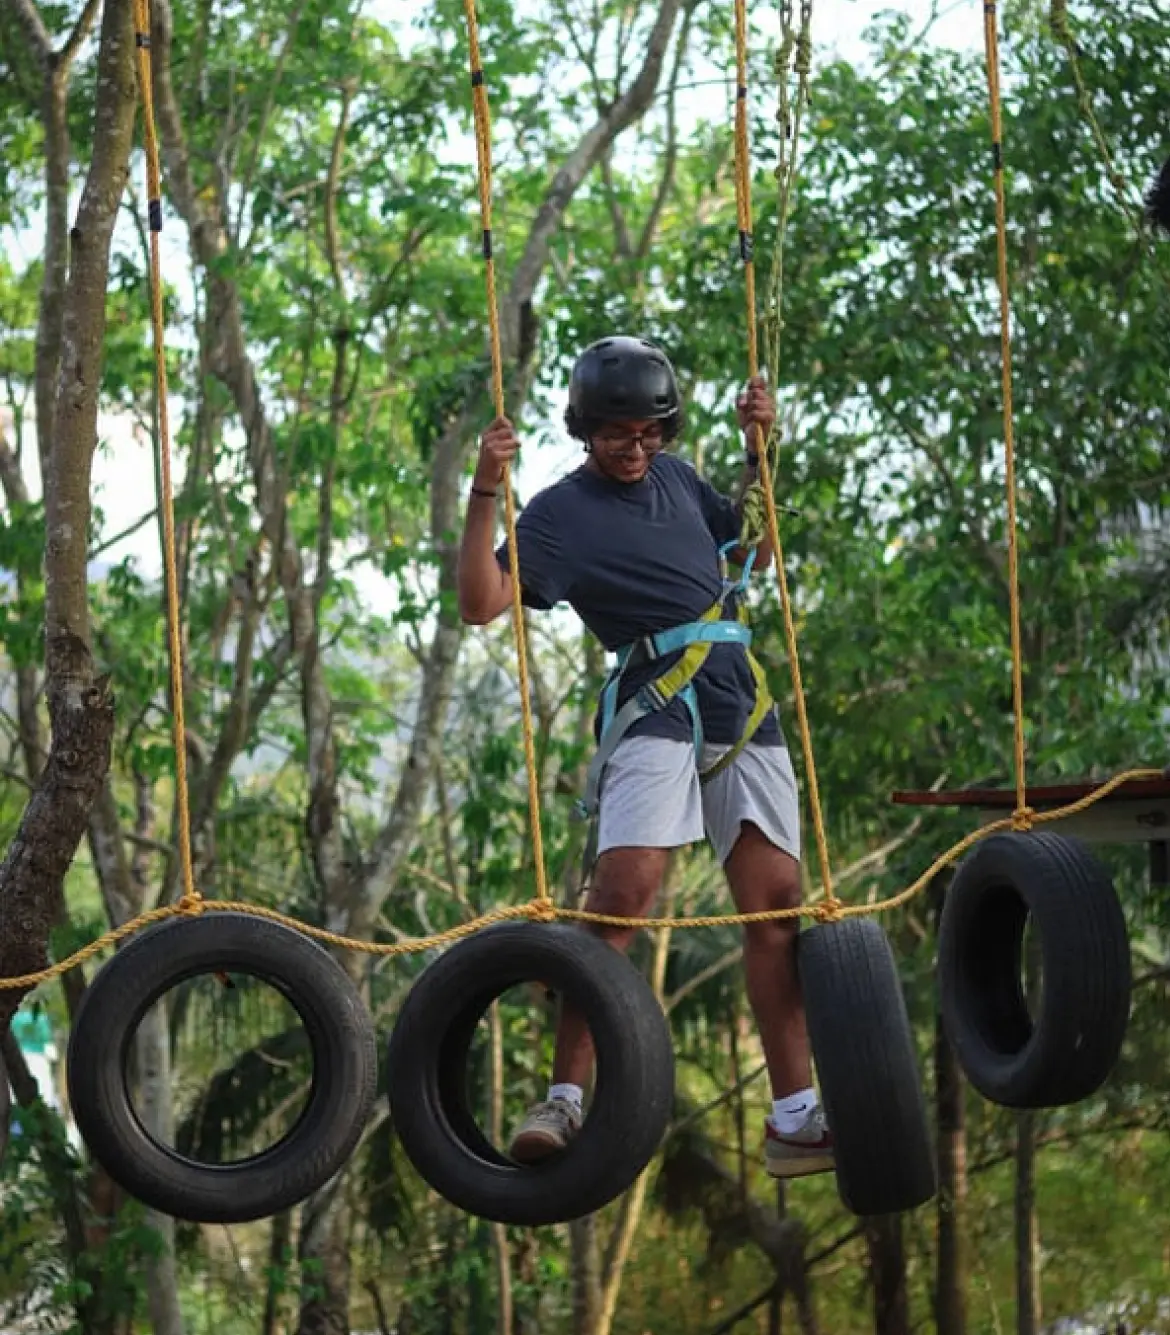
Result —
<svg viewBox="0 0 1170 1335"><path fill-rule="evenodd" d="M1093 806L1094 802L1099 802L1114 789L1121 788L1122 784L1127 784L1133 780L1163 777L1165 772L1161 769L1129 769L1121 774L1114 774L1113 778L1106 780L1101 784L1101 786L1095 788L1091 793L1086 793L1085 797L1078 798L1075 802L1068 802L1066 806L1055 806L1047 812L1030 813L1030 821L1032 825L1043 825L1048 821L1056 821L1066 816L1074 816L1078 812L1083 812ZM365 955L378 956L419 955L423 951L433 951L443 945L451 945L454 941L461 941L463 937L474 936L475 932L481 932L483 928L493 926L497 922L517 922L525 920L536 922L554 922L558 920L572 922L594 922L605 926L636 926L646 928L648 930L658 930L664 928L680 926L736 926L745 922L775 922L784 918L800 917L813 918L820 922L833 921L841 917L864 917L869 913L886 913L890 909L899 908L900 905L908 902L916 894L922 893L922 890L927 888L931 880L944 866L948 866L959 858L967 852L968 848L978 844L980 840L987 838L990 834L998 834L1012 829L1020 829L1019 816L1015 812L1012 812L1011 816L1004 816L1003 820L991 821L990 824L980 826L978 830L972 830L964 838L959 840L958 844L954 844L950 849L947 849L946 853L935 858L935 861L912 885L907 886L899 894L891 896L888 900L880 900L878 904L841 904L837 900L821 898L812 904L803 904L799 908L767 909L760 913L723 913L687 918L630 918L617 917L609 913L588 913L584 909L565 909L557 906L549 900L536 898L530 900L528 904L510 904L504 908L490 909L488 913L482 913L470 922L461 922L458 926L447 928L446 932L434 932L431 936L417 937L410 941L393 943L359 941L355 937L342 936L341 933L330 932L326 928L311 926L307 922L301 922L297 918L290 917L287 913L280 913L276 909L268 909L259 904L247 904L236 900L196 900L187 904L167 904L162 908L139 913L138 917L131 918L128 922L123 922L119 928L114 928L104 936L98 937L96 941L91 941L88 945L81 947L80 951L75 951L73 955L64 960L59 960L47 969L40 969L36 973L21 973L12 979L0 979L0 991L11 991L13 988L27 989L35 988L41 983L49 983L52 979L59 979L61 975L68 973L69 969L77 968L77 965L84 964L87 960L92 960L93 956L100 955L107 947L124 941L128 936L138 932L139 928L150 926L155 922L163 922L172 917L195 917L199 913L208 912L247 913L251 917L260 917L267 918L270 922L279 922L283 926L301 932L302 934L313 937L317 941L323 941L327 945L337 945L350 951L359 951ZM417 868L413 870L417 870Z"/></svg>

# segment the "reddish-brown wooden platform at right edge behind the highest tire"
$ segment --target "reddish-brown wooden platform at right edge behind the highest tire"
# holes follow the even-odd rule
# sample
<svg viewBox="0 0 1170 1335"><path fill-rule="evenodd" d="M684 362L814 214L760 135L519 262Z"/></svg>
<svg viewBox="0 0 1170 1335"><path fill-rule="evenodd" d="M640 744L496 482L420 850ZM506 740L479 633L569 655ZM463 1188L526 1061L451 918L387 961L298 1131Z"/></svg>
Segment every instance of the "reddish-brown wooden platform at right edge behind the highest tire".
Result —
<svg viewBox="0 0 1170 1335"><path fill-rule="evenodd" d="M1027 789L1027 805L1034 810L1066 806L1087 797L1103 780L1081 780L1068 784L1035 785ZM988 825L1015 810L1015 786L952 788L939 792L892 794L902 806L968 808L978 824ZM1170 885L1170 777L1130 780L1099 798L1093 806L1055 821L1044 829L1074 834L1087 844L1147 844L1150 846L1150 880Z"/></svg>

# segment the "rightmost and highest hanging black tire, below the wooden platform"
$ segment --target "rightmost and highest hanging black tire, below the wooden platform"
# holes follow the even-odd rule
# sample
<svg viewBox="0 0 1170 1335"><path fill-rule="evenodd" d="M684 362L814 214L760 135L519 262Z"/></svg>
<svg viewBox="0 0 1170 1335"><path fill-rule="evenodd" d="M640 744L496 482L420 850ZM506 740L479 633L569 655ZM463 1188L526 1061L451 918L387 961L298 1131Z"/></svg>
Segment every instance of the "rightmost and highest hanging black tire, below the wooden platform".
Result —
<svg viewBox="0 0 1170 1335"><path fill-rule="evenodd" d="M1024 926L1040 996L1024 993ZM992 834L963 861L939 924L943 1025L971 1084L1008 1108L1095 1093L1121 1053L1130 945L1109 873L1079 840Z"/></svg>

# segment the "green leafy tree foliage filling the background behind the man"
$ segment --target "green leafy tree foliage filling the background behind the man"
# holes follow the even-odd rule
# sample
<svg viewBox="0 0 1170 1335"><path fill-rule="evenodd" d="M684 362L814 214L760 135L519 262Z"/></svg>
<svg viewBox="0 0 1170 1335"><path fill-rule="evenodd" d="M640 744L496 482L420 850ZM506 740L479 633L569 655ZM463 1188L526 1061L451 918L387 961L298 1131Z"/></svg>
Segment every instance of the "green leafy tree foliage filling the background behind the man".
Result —
<svg viewBox="0 0 1170 1335"><path fill-rule="evenodd" d="M43 11L55 40L69 31L77 8ZM290 647L298 609L286 602L278 563L295 551L311 583L329 547L329 567L313 594L335 748L337 821L357 880L374 860L395 810L398 780L409 773L419 665L437 618L451 611L441 581L458 535L433 531L431 482L453 425L474 431L490 411L463 7L433 0L406 7L409 15L399 8L355 17L338 0L292 7L259 0L179 5L175 13L176 92L196 188L211 207L216 192L231 187L220 200L228 247L208 275L192 275L182 263L186 238L176 222L164 292L196 805L219 742L242 729L207 828L204 889L314 922L339 906L325 901L306 833L306 646ZM1075 19L1093 24L1082 68L1114 163L1123 179L1142 183L1166 154L1170 85L1157 59L1165 15L1154 0L1137 0L1123 16L1072 8ZM601 31L590 33L586 9L561 0L478 7L494 117L501 290L565 152L617 91L614 57L628 80L654 16L649 3L605 0L593 7ZM781 531L837 868L906 830L908 818L888 801L892 789L1012 778L999 302L983 71L975 55L916 48L904 19L883 21L869 40L865 65L817 61L785 247L777 386L779 486L797 511L783 517ZM75 176L92 135L91 47L71 85ZM777 144L765 56L760 41L753 57L764 80L753 67L751 105L760 314L772 338ZM697 84L699 96L680 104L673 140L660 96L548 239L550 266L532 312L533 386L516 405L526 438L556 437L565 374L585 342L614 327L638 330L658 338L678 366L688 421L680 450L716 485L733 485L740 442L732 402L745 374L745 312L731 103L727 88L711 81L729 60L728 7L700 4L680 67L681 83ZM1137 236L1133 212L1110 184L1078 112L1067 61L1038 7L1012 9L1004 61L1028 772L1051 780L1101 776L1139 760L1166 760L1170 270L1165 244ZM28 227L40 226L44 198L35 69L20 29L0 7L5 243L13 228L24 228L21 244L5 244L0 259L0 382L5 439L25 475L35 453L41 283L40 260L27 259L37 250L28 244L36 235ZM326 182L343 87L349 120L331 254ZM672 178L660 199L668 160ZM136 162L136 183L139 168ZM640 250L650 219L649 244ZM238 421L210 370L208 350L223 332L207 327L219 280L236 288L270 429L263 447L288 491L287 527L279 533L258 515L254 451L260 445L246 437L251 423ZM108 287L100 426L107 455L132 431L158 449L147 296L142 236L128 227ZM166 856L175 837L174 744L150 514L154 467L147 450L136 450L138 471L127 485L150 521L140 530L150 542L134 554L126 546L107 551L115 534L98 518L91 615L95 650L118 697L111 782L123 828L134 830L126 853L135 886L154 902L174 874ZM41 654L43 542L39 501L8 497L0 515L0 567L9 577L0 597L0 642L12 669L36 668ZM775 587L771 577L755 586L757 645L799 756ZM255 609L247 631L246 607ZM572 800L590 750L598 663L556 618L533 618L532 633L546 868L556 893L572 897L584 838ZM243 694L242 645L251 666ZM506 625L467 637L439 738L439 774L421 797L421 833L371 925L375 939L438 930L532 896L514 681ZM15 721L0 722L16 756ZM12 829L24 792L5 788L0 801ZM958 816L928 818L871 873L847 881L844 892L861 898L902 888L966 829ZM1147 884L1142 850L1106 856L1133 928L1138 975L1149 977L1135 989L1126 1051L1101 1097L1040 1119L1039 1133L1047 1137L1039 1160L1043 1298L1054 1319L1117 1302L1147 1312L1165 1287L1161 1235L1150 1220L1170 1184L1163 1144L1170 995L1158 972L1170 920L1165 894ZM680 858L676 874L684 912L723 909L721 878L707 854ZM84 857L71 873L68 898L72 920L57 930L55 955L91 939L102 922ZM887 925L928 1071L931 914L916 901ZM715 1103L759 1064L753 1039L731 1043L745 1007L736 944L732 930L685 930L670 945L666 993L678 999L670 1015L688 1105ZM646 943L638 943L634 959L644 964L646 953ZM383 1031L426 959L395 959L366 975ZM170 1015L178 1143L220 1159L255 1149L306 1077L295 1024L264 989L234 981L224 989L215 980L191 980L174 996ZM56 995L49 1004L64 1039L64 1005ZM529 988L502 999L498 1015L508 1124L544 1091L552 1012L542 991ZM469 1089L486 1124L492 1076L483 1036L474 1045ZM756 1164L767 1097L764 1081L745 1085L743 1145L733 1099L703 1119L693 1140L672 1141L673 1157L657 1169L626 1268L614 1335L672 1328L700 1335L768 1282L768 1264L745 1242L741 1220L712 1206L695 1168L696 1147L727 1164L743 1152L751 1189L769 1200ZM21 1109L21 1125L43 1131L41 1143L65 1157L40 1153L31 1133L12 1143L0 1195L0 1303L39 1304L35 1319L45 1322L71 1320L87 1304L93 1320L140 1318L156 1239L139 1211L123 1207L92 1247L71 1251L61 1183L83 1193L92 1183L88 1167L61 1151L52 1119L41 1127L39 1116ZM974 1097L968 1116L970 1328L983 1335L1012 1319L1014 1124ZM689 1164L689 1177L680 1179L680 1164ZM371 1128L346 1189L355 1210L355 1330L377 1326L367 1284L377 1287L391 1326L419 1335L494 1328L490 1230L434 1199L405 1161L389 1120ZM852 1224L832 1183L793 1187L788 1204L808 1230L809 1255L821 1258L813 1267L821 1328L867 1328L864 1244L849 1236ZM605 1212L602 1234L614 1215ZM279 1322L295 1322L306 1295L323 1291L319 1262L302 1264L295 1230L282 1243L280 1227L274 1222L234 1235L254 1276L246 1294L234 1259L198 1230L180 1230L191 1332L252 1335L266 1300L283 1328ZM911 1315L923 1327L932 1319L932 1228L930 1210L906 1222ZM525 1328L570 1328L574 1276L564 1235L508 1236ZM1155 1328L1153 1316L1145 1319Z"/></svg>

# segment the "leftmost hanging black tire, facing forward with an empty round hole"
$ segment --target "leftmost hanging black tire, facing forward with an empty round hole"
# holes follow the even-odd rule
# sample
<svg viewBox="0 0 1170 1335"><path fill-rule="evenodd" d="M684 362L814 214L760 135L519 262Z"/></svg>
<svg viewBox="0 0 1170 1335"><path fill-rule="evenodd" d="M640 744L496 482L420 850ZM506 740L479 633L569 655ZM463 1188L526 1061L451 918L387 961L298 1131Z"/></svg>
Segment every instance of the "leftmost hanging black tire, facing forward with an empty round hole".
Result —
<svg viewBox="0 0 1170 1335"><path fill-rule="evenodd" d="M154 1003L200 973L247 973L298 1012L313 1085L292 1129L230 1164L188 1159L151 1136L127 1080L134 1032ZM93 1157L131 1196L176 1219L236 1224L288 1210L345 1164L374 1101L378 1044L370 1015L338 963L292 928L208 912L148 928L89 984L69 1036L69 1101Z"/></svg>

